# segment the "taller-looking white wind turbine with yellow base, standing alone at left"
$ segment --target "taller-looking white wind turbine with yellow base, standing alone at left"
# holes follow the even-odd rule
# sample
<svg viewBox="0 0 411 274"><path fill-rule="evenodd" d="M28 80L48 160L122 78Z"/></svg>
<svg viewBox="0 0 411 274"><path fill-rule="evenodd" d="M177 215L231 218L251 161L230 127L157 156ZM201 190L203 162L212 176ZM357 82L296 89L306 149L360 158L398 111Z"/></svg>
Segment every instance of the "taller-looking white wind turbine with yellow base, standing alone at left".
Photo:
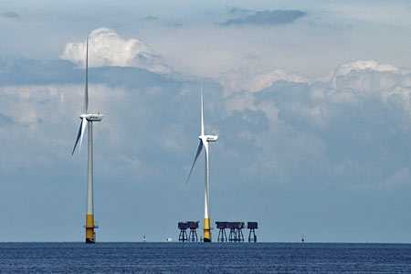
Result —
<svg viewBox="0 0 411 274"><path fill-rule="evenodd" d="M81 143L83 142L84 131L86 126L89 125L88 130L88 180L87 180L87 215L86 215L86 243L94 244L96 242L96 233L94 228L99 228L94 225L94 206L93 206L93 121L101 121L103 115L88 113L89 108L89 37L87 38L86 47L86 90L84 92L84 106L83 114L79 116L81 119L79 126L79 133L77 134L76 142L74 143L73 152L76 150L76 146L79 142L79 153L81 150Z"/></svg>

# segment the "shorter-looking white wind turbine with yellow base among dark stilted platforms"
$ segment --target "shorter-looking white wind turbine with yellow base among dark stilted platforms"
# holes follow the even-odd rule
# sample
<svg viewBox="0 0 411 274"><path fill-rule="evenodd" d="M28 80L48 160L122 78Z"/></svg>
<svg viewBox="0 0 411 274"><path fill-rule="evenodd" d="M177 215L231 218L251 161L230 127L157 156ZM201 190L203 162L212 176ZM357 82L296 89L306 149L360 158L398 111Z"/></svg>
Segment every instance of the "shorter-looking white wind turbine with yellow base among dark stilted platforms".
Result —
<svg viewBox="0 0 411 274"><path fill-rule="evenodd" d="M209 205L210 205L210 171L208 168L208 142L216 142L218 136L215 135L205 135L204 133L204 111L203 111L203 84L201 84L201 134L198 136L200 139L200 143L198 144L197 153L195 153L195 161L197 161L198 155L200 155L203 147L205 148L205 192L204 192L204 199L205 199L205 206L204 206L204 241L211 242L211 233L210 233L210 216L209 216ZM191 173L193 172L193 168L195 166L195 161L191 166L190 174L188 174L187 181L185 184L188 183L190 179Z"/></svg>

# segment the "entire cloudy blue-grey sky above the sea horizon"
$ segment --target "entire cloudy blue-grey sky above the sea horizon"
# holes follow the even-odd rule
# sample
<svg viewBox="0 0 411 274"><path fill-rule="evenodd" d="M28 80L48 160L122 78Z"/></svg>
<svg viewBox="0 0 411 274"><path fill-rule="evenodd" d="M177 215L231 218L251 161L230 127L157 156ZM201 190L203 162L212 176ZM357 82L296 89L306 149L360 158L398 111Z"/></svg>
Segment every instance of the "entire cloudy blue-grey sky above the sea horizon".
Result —
<svg viewBox="0 0 411 274"><path fill-rule="evenodd" d="M2 1L0 241L84 241L90 37L98 241L203 226L202 82L212 224L411 242L410 23L408 1Z"/></svg>

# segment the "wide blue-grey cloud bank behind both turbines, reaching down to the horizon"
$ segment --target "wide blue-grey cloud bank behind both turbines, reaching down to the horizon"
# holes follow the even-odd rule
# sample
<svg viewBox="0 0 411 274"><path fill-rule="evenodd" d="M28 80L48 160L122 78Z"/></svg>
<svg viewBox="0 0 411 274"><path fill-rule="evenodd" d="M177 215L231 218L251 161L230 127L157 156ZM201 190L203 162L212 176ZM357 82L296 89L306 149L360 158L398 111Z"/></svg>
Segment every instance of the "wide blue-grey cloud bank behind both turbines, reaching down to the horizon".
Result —
<svg viewBox="0 0 411 274"><path fill-rule="evenodd" d="M62 60L32 60L33 68L54 69L42 69L40 82L26 73L19 82L17 76L27 62L1 63L0 78L14 81L0 87L0 140L9 144L0 158L0 176L2 182L15 182L4 183L12 194L16 185L30 193L4 192L0 203L5 206L15 199L34 211L47 203L74 203L73 210L64 210L66 216L61 216L72 222L59 231L67 235L64 240L76 240L76 233L82 235L81 227L73 226L82 222L86 162L84 155L71 157L70 150L78 126L76 113L81 109L84 70ZM58 75L67 76L58 82ZM258 219L265 226L259 235L266 240L292 240L304 230L312 240L357 241L373 228L378 212L409 206L404 195L411 179L408 71L359 60L336 68L327 79L274 79L263 90L234 90L225 95L216 82L204 79L203 83L207 132L220 135L210 153L213 219ZM134 240L140 238L134 231L162 240L175 235L176 221L202 216L202 169L195 169L188 187L184 184L197 145L198 108L197 79L175 79L143 68L90 68L90 109L106 115L95 127L95 206L104 228L99 231L100 240L130 238L119 237L116 224L121 216L135 216L126 223L121 220L121 227L132 227L124 234L133 235ZM38 185L47 187L53 198L34 201L33 195L40 195ZM233 187L236 195L227 195ZM290 193L296 203L287 202ZM310 200L313 193L320 194ZM387 199L394 194L394 205L374 201L376 196ZM238 199L241 205L236 205ZM365 201L373 212L360 206ZM192 206L181 210L185 205ZM118 216L114 214L118 206L129 209ZM353 216L345 216L349 222L365 220L352 223L357 234L330 225L332 220L338 226L333 210L338 212L341 206L355 209ZM22 219L32 219L22 209L17 213L18 218L9 217L10 225L5 227L4 235L13 240L19 234L16 227L24 227ZM47 216L37 218L34 229L52 221ZM394 212L391 218L402 227L409 226L400 213ZM152 220L149 227L142 225L144 219ZM276 235L270 234L272 227ZM330 229L337 229L338 235L328 234ZM367 240L401 241L406 233L406 228L382 224Z"/></svg>

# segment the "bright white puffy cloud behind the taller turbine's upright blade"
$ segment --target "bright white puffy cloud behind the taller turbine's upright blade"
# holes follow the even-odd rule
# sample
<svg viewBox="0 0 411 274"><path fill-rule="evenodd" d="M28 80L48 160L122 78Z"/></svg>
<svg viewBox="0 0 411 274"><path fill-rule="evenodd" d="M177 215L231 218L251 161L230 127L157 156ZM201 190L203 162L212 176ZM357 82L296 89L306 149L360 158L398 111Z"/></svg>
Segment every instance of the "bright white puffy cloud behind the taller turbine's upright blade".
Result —
<svg viewBox="0 0 411 274"><path fill-rule="evenodd" d="M90 33L89 66L145 68L156 73L171 72L151 47L138 39L124 40L112 29L100 27ZM60 58L85 67L86 41L68 42Z"/></svg>

